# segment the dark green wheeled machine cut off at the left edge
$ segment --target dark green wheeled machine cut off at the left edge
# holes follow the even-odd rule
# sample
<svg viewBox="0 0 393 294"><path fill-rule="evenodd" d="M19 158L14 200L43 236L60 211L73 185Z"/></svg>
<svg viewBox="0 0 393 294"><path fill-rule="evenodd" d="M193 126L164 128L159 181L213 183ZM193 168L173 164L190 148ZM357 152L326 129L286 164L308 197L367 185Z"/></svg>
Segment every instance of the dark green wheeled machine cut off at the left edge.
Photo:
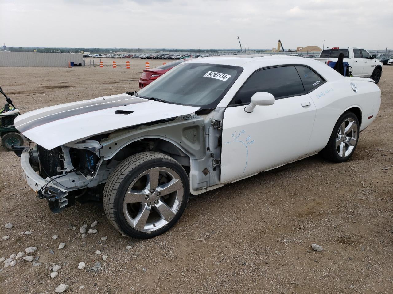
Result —
<svg viewBox="0 0 393 294"><path fill-rule="evenodd" d="M6 104L0 109L0 137L1 143L7 151L12 151L13 146L23 145L23 136L18 132L14 125L14 119L20 114L15 108L10 98L0 87L0 93L6 97Z"/></svg>

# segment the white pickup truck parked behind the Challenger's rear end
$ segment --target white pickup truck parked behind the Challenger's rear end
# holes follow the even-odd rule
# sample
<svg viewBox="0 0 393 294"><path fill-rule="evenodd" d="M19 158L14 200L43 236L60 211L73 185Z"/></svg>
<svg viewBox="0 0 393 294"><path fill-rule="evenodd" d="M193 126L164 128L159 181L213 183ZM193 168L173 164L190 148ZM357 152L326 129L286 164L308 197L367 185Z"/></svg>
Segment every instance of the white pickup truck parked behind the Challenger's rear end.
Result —
<svg viewBox="0 0 393 294"><path fill-rule="evenodd" d="M323 49L319 58L314 58L329 65L329 62L337 62L338 55L344 54L344 62L352 67L352 75L359 78L372 78L378 83L382 75L382 63L371 56L367 50L356 47L332 47Z"/></svg>

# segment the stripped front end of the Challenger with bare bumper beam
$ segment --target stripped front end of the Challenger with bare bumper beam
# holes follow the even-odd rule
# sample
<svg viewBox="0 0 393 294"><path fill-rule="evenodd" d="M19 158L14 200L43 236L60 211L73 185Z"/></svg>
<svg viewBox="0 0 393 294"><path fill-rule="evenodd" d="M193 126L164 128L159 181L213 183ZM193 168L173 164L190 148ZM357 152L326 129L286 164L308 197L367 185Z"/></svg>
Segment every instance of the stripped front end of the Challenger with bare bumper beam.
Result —
<svg viewBox="0 0 393 294"><path fill-rule="evenodd" d="M20 154L23 177L54 213L75 204L75 200L99 200L99 189L103 189L100 184L107 178L105 172L98 172L103 162L100 149L101 144L95 140L51 150L40 145L25 147Z"/></svg>

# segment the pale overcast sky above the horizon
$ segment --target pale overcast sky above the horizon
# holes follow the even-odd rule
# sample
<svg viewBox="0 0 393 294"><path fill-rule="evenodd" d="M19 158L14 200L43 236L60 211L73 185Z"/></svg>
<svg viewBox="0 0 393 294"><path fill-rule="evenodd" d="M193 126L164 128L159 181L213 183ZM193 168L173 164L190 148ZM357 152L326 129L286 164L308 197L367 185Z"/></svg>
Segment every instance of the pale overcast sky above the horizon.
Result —
<svg viewBox="0 0 393 294"><path fill-rule="evenodd" d="M8 46L393 49L393 0L0 0Z"/></svg>

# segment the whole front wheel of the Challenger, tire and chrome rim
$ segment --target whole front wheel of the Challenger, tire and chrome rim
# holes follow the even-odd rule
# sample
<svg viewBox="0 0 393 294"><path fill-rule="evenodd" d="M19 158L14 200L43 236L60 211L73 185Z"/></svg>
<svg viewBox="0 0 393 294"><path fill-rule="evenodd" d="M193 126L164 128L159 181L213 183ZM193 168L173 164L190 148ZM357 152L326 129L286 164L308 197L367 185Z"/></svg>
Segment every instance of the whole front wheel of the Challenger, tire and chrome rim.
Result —
<svg viewBox="0 0 393 294"><path fill-rule="evenodd" d="M171 228L189 199L183 167L159 152L125 159L105 184L103 205L112 225L133 238L147 239Z"/></svg>

